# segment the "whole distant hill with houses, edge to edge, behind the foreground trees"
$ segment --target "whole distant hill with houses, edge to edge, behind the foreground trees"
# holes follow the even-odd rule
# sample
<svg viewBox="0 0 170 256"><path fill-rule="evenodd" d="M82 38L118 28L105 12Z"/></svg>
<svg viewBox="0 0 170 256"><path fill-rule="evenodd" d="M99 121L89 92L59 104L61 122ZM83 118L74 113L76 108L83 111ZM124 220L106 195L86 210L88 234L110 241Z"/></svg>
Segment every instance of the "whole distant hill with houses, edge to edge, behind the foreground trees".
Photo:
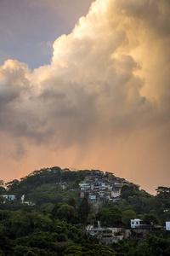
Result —
<svg viewBox="0 0 170 256"><path fill-rule="evenodd" d="M155 214L165 224L170 219L170 189L158 187L150 195L139 185L130 183L111 172L99 170L71 171L59 166L42 168L20 180L0 183L0 210L20 210L25 207L38 209L58 203L79 207L83 199L101 208L116 207L120 211L133 211L139 217ZM133 214L134 215L134 214Z"/></svg>

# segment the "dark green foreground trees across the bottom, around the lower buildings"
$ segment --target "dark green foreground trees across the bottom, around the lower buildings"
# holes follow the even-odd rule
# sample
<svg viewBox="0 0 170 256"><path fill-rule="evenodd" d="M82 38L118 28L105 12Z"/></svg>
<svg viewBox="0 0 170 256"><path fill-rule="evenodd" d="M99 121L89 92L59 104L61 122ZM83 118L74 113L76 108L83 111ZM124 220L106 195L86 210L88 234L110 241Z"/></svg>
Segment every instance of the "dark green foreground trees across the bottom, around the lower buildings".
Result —
<svg viewBox="0 0 170 256"><path fill-rule="evenodd" d="M33 207L20 211L0 210L0 255L170 255L169 232L140 237L132 231L128 239L105 246L99 244L96 236L83 231L88 223L94 224L97 219L102 225L123 226L133 210L122 212L110 207L94 213L86 198L78 207L72 198L69 203L46 204L37 210Z"/></svg>

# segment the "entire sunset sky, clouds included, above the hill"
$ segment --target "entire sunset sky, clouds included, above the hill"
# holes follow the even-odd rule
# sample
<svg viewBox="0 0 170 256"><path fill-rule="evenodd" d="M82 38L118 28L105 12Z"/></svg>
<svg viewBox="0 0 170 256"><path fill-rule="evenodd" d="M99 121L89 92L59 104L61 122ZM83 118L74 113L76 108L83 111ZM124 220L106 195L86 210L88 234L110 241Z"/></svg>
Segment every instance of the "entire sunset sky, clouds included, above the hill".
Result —
<svg viewBox="0 0 170 256"><path fill-rule="evenodd" d="M0 179L99 169L170 186L170 2L0 0Z"/></svg>

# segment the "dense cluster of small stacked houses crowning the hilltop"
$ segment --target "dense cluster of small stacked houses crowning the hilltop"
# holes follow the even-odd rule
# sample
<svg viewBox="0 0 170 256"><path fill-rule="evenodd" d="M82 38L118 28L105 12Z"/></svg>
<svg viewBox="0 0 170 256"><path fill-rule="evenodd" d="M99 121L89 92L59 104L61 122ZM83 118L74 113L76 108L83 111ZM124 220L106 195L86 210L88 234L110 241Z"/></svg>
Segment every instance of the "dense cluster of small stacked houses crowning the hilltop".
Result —
<svg viewBox="0 0 170 256"><path fill-rule="evenodd" d="M124 178L115 177L111 172L86 171L86 177L79 183L80 197L88 201L117 201L123 185L132 185Z"/></svg>

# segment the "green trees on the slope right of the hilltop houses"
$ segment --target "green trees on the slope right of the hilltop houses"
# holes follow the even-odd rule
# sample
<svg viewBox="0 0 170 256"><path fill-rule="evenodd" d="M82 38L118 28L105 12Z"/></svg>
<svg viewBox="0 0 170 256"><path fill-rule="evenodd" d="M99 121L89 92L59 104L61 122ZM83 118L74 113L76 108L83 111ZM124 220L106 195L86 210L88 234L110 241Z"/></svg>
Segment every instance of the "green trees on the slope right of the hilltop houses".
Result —
<svg viewBox="0 0 170 256"><path fill-rule="evenodd" d="M121 200L112 206L122 212L132 210L142 219L147 216L145 214L151 214L150 222L165 225L166 221L170 221L170 188L158 187L156 195L150 195L143 189L140 190L139 186L123 186Z"/></svg>

